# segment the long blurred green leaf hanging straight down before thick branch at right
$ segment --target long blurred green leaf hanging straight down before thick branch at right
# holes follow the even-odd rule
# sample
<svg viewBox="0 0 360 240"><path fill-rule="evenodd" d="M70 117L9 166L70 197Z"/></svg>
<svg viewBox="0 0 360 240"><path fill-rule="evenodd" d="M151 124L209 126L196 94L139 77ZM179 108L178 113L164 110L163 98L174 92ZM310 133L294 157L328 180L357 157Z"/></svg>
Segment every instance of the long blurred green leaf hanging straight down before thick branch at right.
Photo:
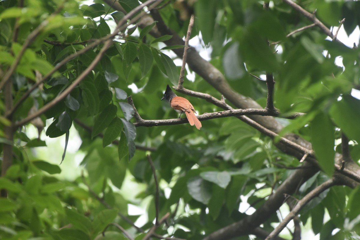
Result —
<svg viewBox="0 0 360 240"><path fill-rule="evenodd" d="M321 169L332 176L334 172L334 127L325 113L319 113L311 122L311 144Z"/></svg>

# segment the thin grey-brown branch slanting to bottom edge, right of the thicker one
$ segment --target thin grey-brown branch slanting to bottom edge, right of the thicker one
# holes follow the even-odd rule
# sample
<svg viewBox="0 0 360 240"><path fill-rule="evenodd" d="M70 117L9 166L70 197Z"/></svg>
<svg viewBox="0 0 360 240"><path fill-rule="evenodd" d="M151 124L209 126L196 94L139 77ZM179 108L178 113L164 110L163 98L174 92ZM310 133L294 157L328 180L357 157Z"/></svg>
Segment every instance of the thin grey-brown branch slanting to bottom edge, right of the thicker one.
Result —
<svg viewBox="0 0 360 240"><path fill-rule="evenodd" d="M323 184L317 186L315 189L310 191L310 193L306 194L301 200L297 202L291 212L284 218L284 220L270 233L269 236L266 237L265 240L273 239L275 236L278 236L279 233L287 226L287 224L296 217L297 213L307 204L311 199L316 198L320 193L327 190L328 188L334 186L336 184L336 180L330 179Z"/></svg>

